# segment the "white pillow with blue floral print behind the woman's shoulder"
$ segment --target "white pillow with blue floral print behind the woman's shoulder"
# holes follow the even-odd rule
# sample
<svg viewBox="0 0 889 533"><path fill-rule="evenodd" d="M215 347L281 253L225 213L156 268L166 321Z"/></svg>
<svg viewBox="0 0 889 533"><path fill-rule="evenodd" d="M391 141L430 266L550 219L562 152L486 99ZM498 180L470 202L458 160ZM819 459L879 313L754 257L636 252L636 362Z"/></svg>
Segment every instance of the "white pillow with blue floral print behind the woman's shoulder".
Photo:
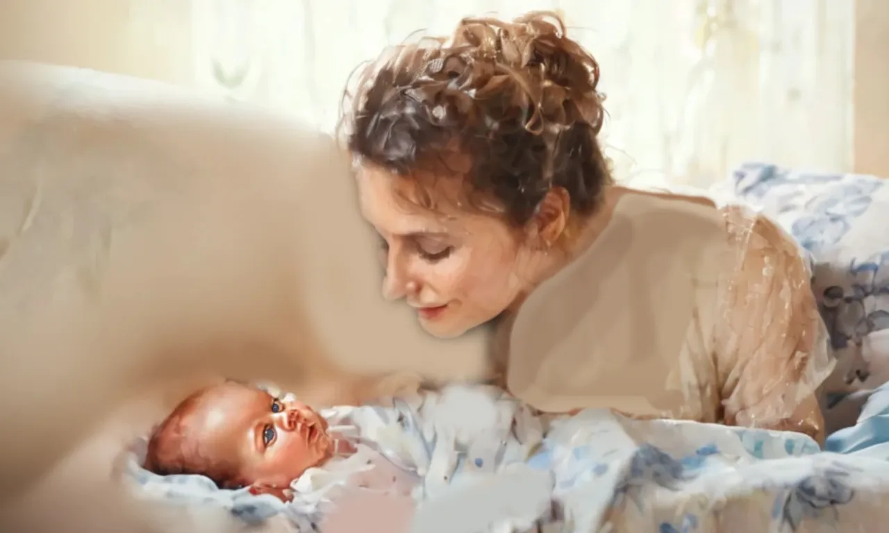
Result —
<svg viewBox="0 0 889 533"><path fill-rule="evenodd" d="M810 254L813 290L837 355L835 393L889 380L889 187L874 176L745 163L733 195L784 227ZM839 393L839 394L836 394Z"/></svg>

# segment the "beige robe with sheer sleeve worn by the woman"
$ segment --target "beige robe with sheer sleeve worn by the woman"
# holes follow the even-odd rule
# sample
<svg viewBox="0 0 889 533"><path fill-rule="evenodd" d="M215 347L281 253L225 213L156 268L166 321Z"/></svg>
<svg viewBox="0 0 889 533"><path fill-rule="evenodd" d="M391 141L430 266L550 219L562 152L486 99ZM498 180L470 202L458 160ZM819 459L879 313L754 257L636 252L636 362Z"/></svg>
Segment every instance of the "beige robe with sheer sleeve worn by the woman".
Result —
<svg viewBox="0 0 889 533"><path fill-rule="evenodd" d="M509 389L535 407L793 429L820 439L834 362L789 235L739 206L628 191L525 301Z"/></svg>

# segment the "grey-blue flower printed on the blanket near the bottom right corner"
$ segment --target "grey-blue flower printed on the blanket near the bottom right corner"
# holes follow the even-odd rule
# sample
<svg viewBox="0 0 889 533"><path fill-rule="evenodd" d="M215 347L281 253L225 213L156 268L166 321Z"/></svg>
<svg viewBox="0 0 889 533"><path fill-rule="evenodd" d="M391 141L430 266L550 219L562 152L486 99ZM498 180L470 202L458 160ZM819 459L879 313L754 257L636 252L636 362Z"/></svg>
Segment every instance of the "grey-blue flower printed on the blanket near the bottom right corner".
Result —
<svg viewBox="0 0 889 533"><path fill-rule="evenodd" d="M836 520L837 506L848 504L855 496L846 482L850 474L849 469L834 464L805 476L776 498L773 514L791 531L797 531L806 519L823 519L824 513L833 513Z"/></svg>

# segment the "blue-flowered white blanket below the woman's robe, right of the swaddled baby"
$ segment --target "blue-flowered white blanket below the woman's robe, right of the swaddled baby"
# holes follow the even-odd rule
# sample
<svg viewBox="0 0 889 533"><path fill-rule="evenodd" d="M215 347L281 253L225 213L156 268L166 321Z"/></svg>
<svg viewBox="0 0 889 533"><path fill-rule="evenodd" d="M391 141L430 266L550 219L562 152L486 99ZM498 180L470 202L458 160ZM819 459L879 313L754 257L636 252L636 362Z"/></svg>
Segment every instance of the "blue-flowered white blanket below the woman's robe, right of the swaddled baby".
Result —
<svg viewBox="0 0 889 533"><path fill-rule="evenodd" d="M548 441L566 531L878 530L889 501L889 461L802 434L587 410Z"/></svg>

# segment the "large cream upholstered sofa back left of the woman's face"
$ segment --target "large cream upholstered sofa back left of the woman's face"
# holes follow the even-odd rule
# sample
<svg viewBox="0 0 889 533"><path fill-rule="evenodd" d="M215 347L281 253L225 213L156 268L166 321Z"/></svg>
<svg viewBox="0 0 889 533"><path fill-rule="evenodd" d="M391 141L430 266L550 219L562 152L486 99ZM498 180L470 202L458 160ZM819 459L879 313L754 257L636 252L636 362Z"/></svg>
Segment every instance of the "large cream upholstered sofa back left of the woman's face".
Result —
<svg viewBox="0 0 889 533"><path fill-rule="evenodd" d="M480 338L434 341L383 303L332 139L164 84L0 65L0 424L28 434L4 439L0 498L158 378L481 369Z"/></svg>

